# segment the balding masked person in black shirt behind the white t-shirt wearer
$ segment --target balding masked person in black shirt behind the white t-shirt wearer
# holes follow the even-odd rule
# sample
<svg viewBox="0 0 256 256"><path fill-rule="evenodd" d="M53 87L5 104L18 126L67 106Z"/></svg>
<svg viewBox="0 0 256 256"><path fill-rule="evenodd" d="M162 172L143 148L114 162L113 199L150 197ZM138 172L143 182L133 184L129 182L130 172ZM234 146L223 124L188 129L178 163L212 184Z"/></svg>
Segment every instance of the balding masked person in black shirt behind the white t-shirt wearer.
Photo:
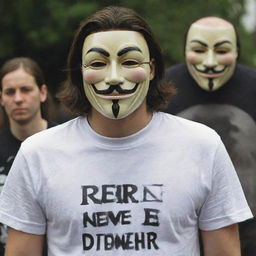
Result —
<svg viewBox="0 0 256 256"><path fill-rule="evenodd" d="M239 38L228 21L205 17L194 22L186 35L186 64L166 70L166 79L178 91L167 112L221 135L255 215L256 70L237 64L239 51ZM255 220L240 224L242 255L256 255L255 230Z"/></svg>

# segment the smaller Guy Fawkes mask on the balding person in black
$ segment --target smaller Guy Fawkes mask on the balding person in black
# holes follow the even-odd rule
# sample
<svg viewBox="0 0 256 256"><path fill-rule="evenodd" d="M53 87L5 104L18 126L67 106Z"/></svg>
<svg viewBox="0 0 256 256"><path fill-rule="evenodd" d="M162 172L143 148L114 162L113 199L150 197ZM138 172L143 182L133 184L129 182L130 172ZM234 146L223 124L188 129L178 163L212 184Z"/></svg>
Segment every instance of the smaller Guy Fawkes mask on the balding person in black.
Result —
<svg viewBox="0 0 256 256"><path fill-rule="evenodd" d="M237 59L233 27L208 27L194 24L186 41L186 63L197 84L214 91L233 75Z"/></svg>

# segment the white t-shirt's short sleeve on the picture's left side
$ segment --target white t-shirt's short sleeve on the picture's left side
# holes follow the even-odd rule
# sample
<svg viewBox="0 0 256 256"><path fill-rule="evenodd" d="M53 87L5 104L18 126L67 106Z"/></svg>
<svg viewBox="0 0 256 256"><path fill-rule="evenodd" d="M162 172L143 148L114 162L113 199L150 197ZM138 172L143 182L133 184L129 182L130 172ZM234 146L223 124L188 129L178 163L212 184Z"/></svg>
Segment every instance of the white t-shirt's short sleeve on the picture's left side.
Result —
<svg viewBox="0 0 256 256"><path fill-rule="evenodd" d="M20 150L0 195L0 222L16 230L42 235L46 220L36 191L36 177L40 174L33 177L29 167Z"/></svg>

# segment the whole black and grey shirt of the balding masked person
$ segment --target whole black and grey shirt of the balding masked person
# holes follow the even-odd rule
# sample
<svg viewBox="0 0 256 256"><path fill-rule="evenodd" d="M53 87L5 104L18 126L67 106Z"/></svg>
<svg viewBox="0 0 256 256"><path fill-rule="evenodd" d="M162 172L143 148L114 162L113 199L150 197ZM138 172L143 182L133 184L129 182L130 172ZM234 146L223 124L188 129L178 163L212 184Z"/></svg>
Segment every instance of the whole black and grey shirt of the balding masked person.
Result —
<svg viewBox="0 0 256 256"><path fill-rule="evenodd" d="M233 76L216 91L203 90L186 64L166 70L177 94L166 112L215 129L237 170L248 203L256 214L256 69L237 65ZM256 255L256 218L240 223L243 256Z"/></svg>

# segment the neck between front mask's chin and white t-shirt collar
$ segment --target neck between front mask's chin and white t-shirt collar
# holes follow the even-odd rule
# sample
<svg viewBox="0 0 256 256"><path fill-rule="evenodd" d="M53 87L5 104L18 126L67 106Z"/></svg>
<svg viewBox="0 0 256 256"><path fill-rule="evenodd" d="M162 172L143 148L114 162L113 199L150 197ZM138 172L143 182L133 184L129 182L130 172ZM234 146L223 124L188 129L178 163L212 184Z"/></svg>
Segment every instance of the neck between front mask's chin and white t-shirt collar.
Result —
<svg viewBox="0 0 256 256"><path fill-rule="evenodd" d="M142 105L128 117L113 120L92 109L88 122L92 129L100 135L111 138L127 137L143 129L151 120L152 113Z"/></svg>

